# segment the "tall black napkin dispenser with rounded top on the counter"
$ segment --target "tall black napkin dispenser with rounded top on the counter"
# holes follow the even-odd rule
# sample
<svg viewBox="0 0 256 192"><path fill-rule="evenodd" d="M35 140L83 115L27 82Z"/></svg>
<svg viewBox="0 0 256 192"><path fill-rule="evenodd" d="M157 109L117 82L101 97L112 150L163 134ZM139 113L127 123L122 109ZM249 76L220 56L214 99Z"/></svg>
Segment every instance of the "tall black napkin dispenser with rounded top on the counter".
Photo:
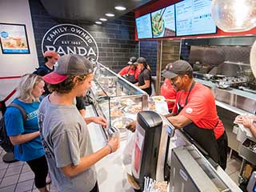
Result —
<svg viewBox="0 0 256 192"><path fill-rule="evenodd" d="M162 134L162 118L154 111L142 111L137 115L132 174L143 190L144 177L156 179L159 146Z"/></svg>

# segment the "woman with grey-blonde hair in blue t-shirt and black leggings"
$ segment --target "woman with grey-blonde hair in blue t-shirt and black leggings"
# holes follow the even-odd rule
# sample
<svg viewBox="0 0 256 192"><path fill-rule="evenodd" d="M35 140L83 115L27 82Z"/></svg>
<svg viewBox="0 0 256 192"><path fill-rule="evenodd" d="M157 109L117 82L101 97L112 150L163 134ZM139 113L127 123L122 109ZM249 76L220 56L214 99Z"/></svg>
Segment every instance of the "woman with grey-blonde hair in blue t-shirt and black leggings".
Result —
<svg viewBox="0 0 256 192"><path fill-rule="evenodd" d="M41 76L25 74L18 87L18 97L14 103L26 110L26 121L22 112L15 107L8 107L5 114L6 131L14 145L14 158L27 162L34 172L34 184L40 192L47 192L46 176L48 166L38 128L39 97L45 91Z"/></svg>

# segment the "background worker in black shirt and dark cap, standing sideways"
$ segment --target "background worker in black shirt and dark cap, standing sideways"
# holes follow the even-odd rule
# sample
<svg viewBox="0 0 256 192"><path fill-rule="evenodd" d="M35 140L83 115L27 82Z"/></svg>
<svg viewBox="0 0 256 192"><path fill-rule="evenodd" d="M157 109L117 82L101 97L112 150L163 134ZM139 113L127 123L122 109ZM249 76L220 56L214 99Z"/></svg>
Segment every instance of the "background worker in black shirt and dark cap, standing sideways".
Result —
<svg viewBox="0 0 256 192"><path fill-rule="evenodd" d="M138 58L137 63L138 68L141 70L141 73L138 75L137 86L150 96L152 94L150 66L146 63L146 58Z"/></svg>

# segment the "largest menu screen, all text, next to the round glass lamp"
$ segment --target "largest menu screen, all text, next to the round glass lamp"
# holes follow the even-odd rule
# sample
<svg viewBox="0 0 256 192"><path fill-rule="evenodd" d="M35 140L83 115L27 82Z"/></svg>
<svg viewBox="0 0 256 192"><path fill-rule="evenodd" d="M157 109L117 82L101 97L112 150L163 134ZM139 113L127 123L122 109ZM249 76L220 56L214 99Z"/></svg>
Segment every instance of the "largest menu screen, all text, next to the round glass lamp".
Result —
<svg viewBox="0 0 256 192"><path fill-rule="evenodd" d="M175 4L176 35L214 34L217 27L210 13L211 0L185 0Z"/></svg>

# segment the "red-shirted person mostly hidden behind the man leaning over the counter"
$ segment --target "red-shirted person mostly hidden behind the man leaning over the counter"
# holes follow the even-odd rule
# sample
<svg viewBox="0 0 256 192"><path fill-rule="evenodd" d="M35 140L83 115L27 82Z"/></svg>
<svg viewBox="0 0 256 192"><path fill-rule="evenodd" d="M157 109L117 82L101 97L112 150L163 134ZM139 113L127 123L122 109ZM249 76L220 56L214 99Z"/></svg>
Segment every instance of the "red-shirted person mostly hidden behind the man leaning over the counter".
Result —
<svg viewBox="0 0 256 192"><path fill-rule="evenodd" d="M174 108L174 102L176 101L176 94L177 94L177 91L171 85L170 79L166 78L160 88L160 95L166 98L165 101L167 102L168 110L170 113Z"/></svg>

